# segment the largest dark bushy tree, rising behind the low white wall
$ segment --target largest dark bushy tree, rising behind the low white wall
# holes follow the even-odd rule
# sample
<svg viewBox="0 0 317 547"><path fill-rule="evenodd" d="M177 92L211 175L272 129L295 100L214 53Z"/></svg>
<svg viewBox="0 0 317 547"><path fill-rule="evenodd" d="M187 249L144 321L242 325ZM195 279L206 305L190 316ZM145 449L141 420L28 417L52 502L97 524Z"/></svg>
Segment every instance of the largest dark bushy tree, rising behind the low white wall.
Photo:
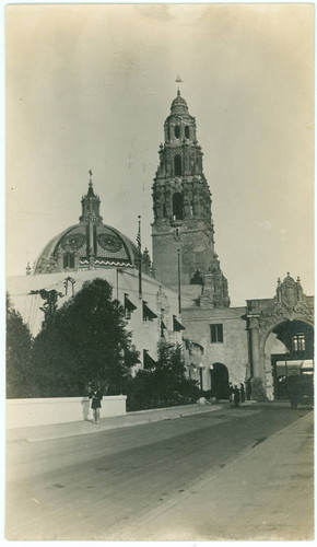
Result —
<svg viewBox="0 0 317 547"><path fill-rule="evenodd" d="M104 279L86 281L34 340L34 396L80 396L91 385L119 394L138 360L125 310Z"/></svg>

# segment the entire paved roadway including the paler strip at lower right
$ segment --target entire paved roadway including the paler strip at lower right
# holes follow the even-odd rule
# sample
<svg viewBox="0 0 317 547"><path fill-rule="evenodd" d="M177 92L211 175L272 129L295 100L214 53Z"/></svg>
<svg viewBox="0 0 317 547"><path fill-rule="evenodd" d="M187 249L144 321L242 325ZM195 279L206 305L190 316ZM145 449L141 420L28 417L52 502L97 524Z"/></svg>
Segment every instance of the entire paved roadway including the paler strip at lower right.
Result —
<svg viewBox="0 0 317 547"><path fill-rule="evenodd" d="M285 406L17 439L7 443L5 537L309 539L313 464L313 412Z"/></svg>

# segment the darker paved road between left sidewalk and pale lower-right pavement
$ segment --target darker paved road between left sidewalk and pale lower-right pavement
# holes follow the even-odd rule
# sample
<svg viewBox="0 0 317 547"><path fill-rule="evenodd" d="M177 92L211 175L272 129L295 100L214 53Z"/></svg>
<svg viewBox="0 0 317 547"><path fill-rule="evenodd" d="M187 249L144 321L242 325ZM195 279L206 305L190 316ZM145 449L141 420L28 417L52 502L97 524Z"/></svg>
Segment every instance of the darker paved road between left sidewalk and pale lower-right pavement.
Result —
<svg viewBox="0 0 317 547"><path fill-rule="evenodd" d="M227 408L94 435L8 443L5 536L119 538L129 523L146 520L207 475L218 476L244 451L305 414Z"/></svg>

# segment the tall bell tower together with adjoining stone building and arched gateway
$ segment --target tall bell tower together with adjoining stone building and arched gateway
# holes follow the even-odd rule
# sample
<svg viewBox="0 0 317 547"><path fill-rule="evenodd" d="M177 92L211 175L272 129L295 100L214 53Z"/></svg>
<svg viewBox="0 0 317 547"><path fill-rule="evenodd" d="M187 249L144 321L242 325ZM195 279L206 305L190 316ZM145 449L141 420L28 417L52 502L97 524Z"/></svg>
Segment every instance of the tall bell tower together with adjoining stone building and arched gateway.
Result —
<svg viewBox="0 0 317 547"><path fill-rule="evenodd" d="M304 294L300 279L287 275L278 281L272 299L231 307L214 249L212 200L196 119L179 91L158 154L152 194L154 271L181 292L189 374L203 391L218 391L221 397L228 382L246 384L255 398L283 396L285 374L313 366L313 296ZM281 369L285 360L286 372Z"/></svg>

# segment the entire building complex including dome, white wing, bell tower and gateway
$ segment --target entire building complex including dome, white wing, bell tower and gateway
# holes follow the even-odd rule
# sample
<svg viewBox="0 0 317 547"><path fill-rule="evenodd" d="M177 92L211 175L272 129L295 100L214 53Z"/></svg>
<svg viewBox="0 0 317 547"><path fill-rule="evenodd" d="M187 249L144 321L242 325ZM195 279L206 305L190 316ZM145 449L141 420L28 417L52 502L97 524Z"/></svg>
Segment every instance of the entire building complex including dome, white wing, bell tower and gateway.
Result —
<svg viewBox="0 0 317 547"><path fill-rule="evenodd" d="M223 398L231 382L244 383L254 398L285 397L289 375L313 371L314 298L287 274L271 299L231 306L214 248L196 119L179 91L158 154L152 187L153 267L148 249L141 254L140 246L103 223L90 179L79 223L55 236L26 276L9 278L13 305L35 336L45 314L84 281L106 279L125 307L140 368L155 365L157 342L164 338L183 342L188 374L202 391Z"/></svg>

